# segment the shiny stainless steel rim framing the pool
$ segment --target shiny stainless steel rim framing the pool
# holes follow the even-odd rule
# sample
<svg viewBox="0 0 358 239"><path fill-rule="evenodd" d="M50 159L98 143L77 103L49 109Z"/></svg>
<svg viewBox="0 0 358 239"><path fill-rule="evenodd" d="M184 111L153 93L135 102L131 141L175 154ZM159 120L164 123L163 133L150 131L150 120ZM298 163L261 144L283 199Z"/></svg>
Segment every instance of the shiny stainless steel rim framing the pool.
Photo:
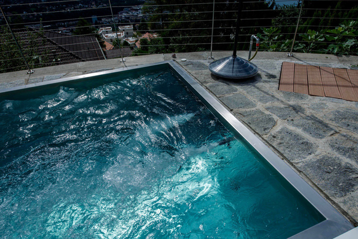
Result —
<svg viewBox="0 0 358 239"><path fill-rule="evenodd" d="M346 220L342 214L335 210L334 207L330 205L314 188L312 188L306 181L304 181L296 173L296 171L294 171L282 159L280 159L274 153L274 151L272 151L266 144L264 144L254 133L250 131L249 128L247 128L235 116L233 116L231 112L229 112L218 100L216 100L207 90L205 90L202 85L193 79L173 60L15 86L13 88L1 89L0 96L16 91L35 89L38 86L51 84L56 85L59 83L85 79L88 77L118 73L128 70L136 70L151 66L160 66L161 64L169 64L169 68L183 81L184 84L186 84L186 86L194 93L194 95L198 97L209 108L209 110L211 110L211 112L220 119L220 121L224 121L224 125L229 126L231 130L235 131L235 133L247 141L273 168L275 168L280 173L280 175L290 185L292 185L303 196L303 198L305 198L313 207L315 207L326 219L315 226L293 235L290 238L334 238L353 228L348 220Z"/></svg>

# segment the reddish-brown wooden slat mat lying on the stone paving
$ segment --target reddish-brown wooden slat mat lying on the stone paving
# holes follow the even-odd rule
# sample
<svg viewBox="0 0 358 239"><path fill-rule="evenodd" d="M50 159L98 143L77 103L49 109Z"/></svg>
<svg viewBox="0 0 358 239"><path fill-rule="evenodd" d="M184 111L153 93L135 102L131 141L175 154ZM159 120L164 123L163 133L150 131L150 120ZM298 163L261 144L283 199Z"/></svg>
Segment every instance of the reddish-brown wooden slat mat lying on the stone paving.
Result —
<svg viewBox="0 0 358 239"><path fill-rule="evenodd" d="M358 70L283 62L279 90L358 101Z"/></svg>

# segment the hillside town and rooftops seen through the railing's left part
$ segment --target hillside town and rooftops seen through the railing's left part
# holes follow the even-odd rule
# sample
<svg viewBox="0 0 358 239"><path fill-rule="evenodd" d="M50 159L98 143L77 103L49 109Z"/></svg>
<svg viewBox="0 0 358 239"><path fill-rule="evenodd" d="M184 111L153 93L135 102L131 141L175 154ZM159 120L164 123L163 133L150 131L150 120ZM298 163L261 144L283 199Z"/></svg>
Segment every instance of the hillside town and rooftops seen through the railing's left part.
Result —
<svg viewBox="0 0 358 239"><path fill-rule="evenodd" d="M112 1L115 4L112 9L116 10L113 17L107 1L70 0L64 5L44 1L29 4L15 0L11 3L0 1L0 5L4 6L15 35L21 39L21 48L32 56L30 64L36 68L131 56L134 49L141 48L141 39L150 41L158 37L155 32L136 31L141 23L148 21L148 16L142 13L144 2L132 1L137 5L127 7L121 1ZM4 25L3 16L0 21ZM147 26L144 29L148 29ZM9 29L3 27L2 30L6 34ZM36 60L33 62L32 58ZM3 66L6 64L13 67L19 62L10 60Z"/></svg>

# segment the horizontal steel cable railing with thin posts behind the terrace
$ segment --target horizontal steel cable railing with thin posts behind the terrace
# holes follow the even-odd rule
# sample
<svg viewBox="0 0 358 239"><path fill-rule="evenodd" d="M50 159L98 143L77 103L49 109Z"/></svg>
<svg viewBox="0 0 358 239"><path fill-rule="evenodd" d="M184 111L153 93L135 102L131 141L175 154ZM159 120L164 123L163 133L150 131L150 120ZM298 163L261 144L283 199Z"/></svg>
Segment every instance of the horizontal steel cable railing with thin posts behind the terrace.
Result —
<svg viewBox="0 0 358 239"><path fill-rule="evenodd" d="M236 1L161 5L152 0L140 6L113 6L107 1L105 5L91 2L80 7L78 2L85 1L1 6L0 72L27 69L31 73L58 64L111 58L125 61L129 56L158 53L210 51L212 56L212 52L232 50L234 46ZM243 2L238 50L248 50L250 37L256 34L261 41L259 52L358 55L358 7L337 1L322 8L313 2ZM57 7L52 8L55 4ZM72 7L61 10L66 4ZM21 6L31 6L32 12L7 12ZM118 33L120 27L128 25L132 31L122 29ZM110 27L107 35L100 34L99 29L106 27Z"/></svg>

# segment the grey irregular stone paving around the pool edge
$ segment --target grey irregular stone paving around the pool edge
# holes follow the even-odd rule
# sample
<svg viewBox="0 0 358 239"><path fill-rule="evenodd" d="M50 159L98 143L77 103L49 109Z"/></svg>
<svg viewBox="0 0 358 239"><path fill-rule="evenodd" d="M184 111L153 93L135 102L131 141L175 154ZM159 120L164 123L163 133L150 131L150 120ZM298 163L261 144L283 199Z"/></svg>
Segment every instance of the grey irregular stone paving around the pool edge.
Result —
<svg viewBox="0 0 358 239"><path fill-rule="evenodd" d="M208 70L208 52L178 53L175 59L234 116L355 226L358 221L358 102L278 91L281 63L353 68L358 57L259 52L259 74L244 81L218 79ZM214 52L215 59L231 52ZM248 52L239 56L247 58ZM182 62L180 59L186 58ZM79 62L0 74L0 88L170 60L171 54Z"/></svg>

